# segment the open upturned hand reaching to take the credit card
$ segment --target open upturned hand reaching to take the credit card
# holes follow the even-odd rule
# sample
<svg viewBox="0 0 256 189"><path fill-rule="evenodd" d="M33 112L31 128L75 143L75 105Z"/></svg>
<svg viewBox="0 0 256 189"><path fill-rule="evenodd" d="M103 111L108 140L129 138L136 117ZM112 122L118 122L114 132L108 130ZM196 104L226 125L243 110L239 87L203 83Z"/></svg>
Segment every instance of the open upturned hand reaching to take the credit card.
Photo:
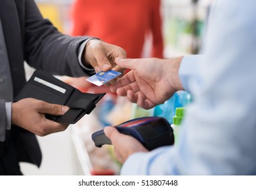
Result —
<svg viewBox="0 0 256 189"><path fill-rule="evenodd" d="M127 96L139 107L151 109L170 99L174 92L182 90L178 69L182 57L173 59L116 59L121 68L130 69L116 83L111 91Z"/></svg>

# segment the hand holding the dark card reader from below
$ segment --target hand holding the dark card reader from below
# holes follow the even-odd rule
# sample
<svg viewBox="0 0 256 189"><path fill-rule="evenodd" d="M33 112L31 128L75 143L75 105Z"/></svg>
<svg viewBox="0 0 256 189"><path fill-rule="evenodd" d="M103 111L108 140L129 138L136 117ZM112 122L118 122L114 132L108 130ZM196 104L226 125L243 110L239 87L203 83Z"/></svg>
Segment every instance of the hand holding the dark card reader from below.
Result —
<svg viewBox="0 0 256 189"><path fill-rule="evenodd" d="M116 128L106 127L104 128L104 133L111 140L116 159L121 163L124 163L124 161L134 153L148 152L138 140L132 136L121 134Z"/></svg>

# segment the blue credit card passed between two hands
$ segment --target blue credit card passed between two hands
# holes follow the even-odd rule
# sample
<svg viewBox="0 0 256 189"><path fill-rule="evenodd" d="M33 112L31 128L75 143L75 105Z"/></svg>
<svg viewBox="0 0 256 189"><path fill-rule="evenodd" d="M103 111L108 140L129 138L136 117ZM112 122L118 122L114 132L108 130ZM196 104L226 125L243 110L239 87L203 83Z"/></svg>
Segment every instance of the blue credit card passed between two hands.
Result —
<svg viewBox="0 0 256 189"><path fill-rule="evenodd" d="M121 72L116 72L115 70L109 70L107 72L99 72L90 78L86 78L88 82L91 82L92 84L95 84L97 86L101 86L103 84L106 84L107 82L113 80L114 78L120 76Z"/></svg>

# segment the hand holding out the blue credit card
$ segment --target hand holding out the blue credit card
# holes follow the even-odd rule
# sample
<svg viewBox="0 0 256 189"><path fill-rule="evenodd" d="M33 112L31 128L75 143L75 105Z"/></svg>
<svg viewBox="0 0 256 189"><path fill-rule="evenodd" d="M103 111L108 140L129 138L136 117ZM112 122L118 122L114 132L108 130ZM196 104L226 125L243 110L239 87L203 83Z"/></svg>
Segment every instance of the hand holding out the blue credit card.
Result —
<svg viewBox="0 0 256 189"><path fill-rule="evenodd" d="M116 65L116 57L126 58L126 51L116 45L111 45L98 39L91 39L86 43L84 51L84 65L93 66L96 72L116 70L124 72L123 68Z"/></svg>

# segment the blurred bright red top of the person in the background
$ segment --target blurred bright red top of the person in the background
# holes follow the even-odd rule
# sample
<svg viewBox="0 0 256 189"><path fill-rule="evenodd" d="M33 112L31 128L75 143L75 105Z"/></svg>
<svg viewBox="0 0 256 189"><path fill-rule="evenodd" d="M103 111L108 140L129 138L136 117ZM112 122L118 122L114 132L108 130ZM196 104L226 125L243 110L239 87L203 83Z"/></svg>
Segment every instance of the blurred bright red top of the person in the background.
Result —
<svg viewBox="0 0 256 189"><path fill-rule="evenodd" d="M76 0L72 10L72 35L101 38L139 58L145 34L152 34L150 57L163 57L160 0Z"/></svg>

